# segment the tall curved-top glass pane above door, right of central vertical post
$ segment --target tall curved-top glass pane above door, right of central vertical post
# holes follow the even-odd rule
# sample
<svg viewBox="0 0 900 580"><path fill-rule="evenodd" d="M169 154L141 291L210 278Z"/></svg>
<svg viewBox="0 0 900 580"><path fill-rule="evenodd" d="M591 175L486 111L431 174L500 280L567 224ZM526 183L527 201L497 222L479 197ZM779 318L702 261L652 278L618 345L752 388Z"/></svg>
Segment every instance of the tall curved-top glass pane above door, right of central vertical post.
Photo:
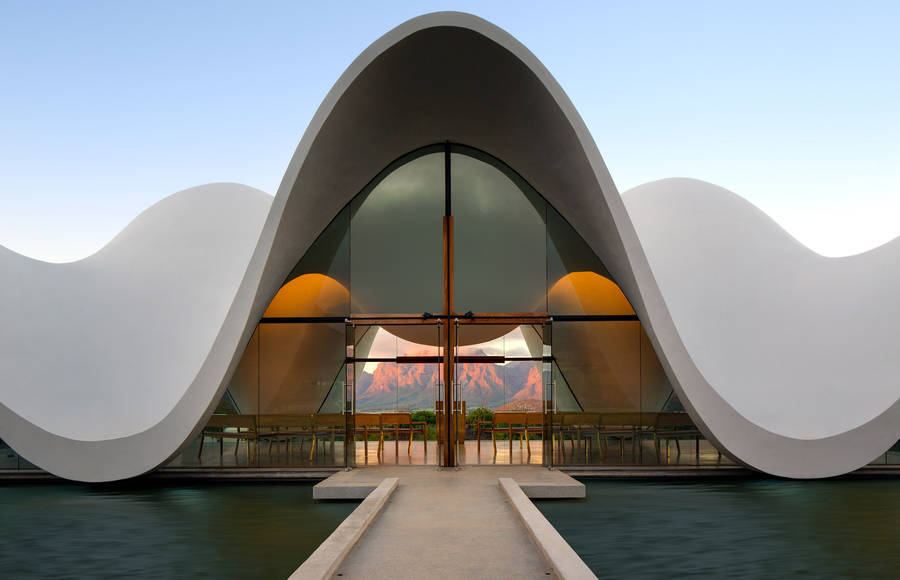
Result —
<svg viewBox="0 0 900 580"><path fill-rule="evenodd" d="M546 312L546 203L490 157L453 151L456 311Z"/></svg>

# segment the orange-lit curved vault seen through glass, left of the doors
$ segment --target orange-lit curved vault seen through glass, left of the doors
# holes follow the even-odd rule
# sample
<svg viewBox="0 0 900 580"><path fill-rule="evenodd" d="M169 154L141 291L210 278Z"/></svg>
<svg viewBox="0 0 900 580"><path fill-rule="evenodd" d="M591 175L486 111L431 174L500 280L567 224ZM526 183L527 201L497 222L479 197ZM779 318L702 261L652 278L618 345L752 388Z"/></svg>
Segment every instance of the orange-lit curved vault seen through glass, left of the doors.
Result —
<svg viewBox="0 0 900 580"><path fill-rule="evenodd" d="M350 291L324 274L303 274L281 287L264 317L345 316Z"/></svg>

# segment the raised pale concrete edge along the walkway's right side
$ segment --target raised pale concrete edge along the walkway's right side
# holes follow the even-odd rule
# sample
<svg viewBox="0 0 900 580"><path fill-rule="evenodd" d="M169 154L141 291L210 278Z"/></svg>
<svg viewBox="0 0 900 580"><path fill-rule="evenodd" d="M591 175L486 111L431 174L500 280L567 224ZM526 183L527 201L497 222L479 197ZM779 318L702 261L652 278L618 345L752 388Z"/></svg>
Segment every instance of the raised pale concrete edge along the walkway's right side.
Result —
<svg viewBox="0 0 900 580"><path fill-rule="evenodd" d="M591 572L584 560L575 553L572 546L556 531L544 514L519 487L519 484L510 477L498 478L500 488L506 494L506 498L519 519L528 530L529 535L537 544L538 549L552 566L553 571L561 580L581 580L597 576Z"/></svg>

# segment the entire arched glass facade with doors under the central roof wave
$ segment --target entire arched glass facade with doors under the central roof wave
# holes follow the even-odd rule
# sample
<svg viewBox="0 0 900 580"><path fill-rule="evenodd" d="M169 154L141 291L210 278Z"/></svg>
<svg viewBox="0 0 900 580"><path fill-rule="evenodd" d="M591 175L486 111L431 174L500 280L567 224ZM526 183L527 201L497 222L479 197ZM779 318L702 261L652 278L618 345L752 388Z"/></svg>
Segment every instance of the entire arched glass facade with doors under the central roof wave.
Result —
<svg viewBox="0 0 900 580"><path fill-rule="evenodd" d="M584 240L511 168L449 144L392 163L319 235L172 465L448 457L724 461Z"/></svg>

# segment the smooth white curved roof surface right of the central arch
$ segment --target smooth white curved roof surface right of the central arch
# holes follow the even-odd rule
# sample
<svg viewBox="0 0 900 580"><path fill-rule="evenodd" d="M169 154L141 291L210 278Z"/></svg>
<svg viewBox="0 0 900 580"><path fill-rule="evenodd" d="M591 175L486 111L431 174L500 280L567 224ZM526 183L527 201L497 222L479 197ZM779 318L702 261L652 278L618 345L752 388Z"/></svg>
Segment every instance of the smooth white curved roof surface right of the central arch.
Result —
<svg viewBox="0 0 900 580"><path fill-rule="evenodd" d="M743 198L691 179L623 194L685 348L744 417L821 439L900 396L900 239L827 258Z"/></svg>

